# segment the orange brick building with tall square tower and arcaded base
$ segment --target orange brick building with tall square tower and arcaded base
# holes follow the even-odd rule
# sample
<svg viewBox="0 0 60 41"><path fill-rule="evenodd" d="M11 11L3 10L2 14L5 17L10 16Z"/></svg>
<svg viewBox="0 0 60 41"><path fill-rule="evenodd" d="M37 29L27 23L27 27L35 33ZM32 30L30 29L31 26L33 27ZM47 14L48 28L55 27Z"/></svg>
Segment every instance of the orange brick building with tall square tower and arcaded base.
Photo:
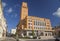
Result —
<svg viewBox="0 0 60 41"><path fill-rule="evenodd" d="M17 25L17 33L22 37L32 36L53 36L50 19L36 16L28 16L28 6L22 2L20 22Z"/></svg>

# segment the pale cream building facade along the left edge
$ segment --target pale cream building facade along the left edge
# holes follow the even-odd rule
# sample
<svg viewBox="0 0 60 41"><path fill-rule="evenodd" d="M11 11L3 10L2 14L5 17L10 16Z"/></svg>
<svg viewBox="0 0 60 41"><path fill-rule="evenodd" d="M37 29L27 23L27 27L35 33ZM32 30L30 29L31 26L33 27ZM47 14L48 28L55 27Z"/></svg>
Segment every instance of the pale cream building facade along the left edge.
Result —
<svg viewBox="0 0 60 41"><path fill-rule="evenodd" d="M7 31L7 24L3 14L2 2L0 0L0 38L6 37L6 31Z"/></svg>

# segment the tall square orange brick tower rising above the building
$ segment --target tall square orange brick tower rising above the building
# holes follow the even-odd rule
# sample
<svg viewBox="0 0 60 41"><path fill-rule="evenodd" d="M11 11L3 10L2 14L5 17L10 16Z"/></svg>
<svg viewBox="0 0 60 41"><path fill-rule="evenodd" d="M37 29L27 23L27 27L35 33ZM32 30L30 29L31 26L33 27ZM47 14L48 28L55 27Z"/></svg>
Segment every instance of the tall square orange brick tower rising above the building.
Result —
<svg viewBox="0 0 60 41"><path fill-rule="evenodd" d="M25 17L28 16L28 6L26 2L22 2L22 7L21 7L21 19L25 19Z"/></svg>

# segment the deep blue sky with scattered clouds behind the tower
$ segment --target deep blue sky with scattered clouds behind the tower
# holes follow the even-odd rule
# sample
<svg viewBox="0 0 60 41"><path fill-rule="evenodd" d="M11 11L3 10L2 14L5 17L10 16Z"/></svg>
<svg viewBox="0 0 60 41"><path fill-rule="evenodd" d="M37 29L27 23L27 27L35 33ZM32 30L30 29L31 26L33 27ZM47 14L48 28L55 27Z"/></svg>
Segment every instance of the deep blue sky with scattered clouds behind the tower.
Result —
<svg viewBox="0 0 60 41"><path fill-rule="evenodd" d="M28 3L29 16L48 18L52 27L60 24L60 0L2 0L8 32L16 28L20 21L22 2Z"/></svg>

